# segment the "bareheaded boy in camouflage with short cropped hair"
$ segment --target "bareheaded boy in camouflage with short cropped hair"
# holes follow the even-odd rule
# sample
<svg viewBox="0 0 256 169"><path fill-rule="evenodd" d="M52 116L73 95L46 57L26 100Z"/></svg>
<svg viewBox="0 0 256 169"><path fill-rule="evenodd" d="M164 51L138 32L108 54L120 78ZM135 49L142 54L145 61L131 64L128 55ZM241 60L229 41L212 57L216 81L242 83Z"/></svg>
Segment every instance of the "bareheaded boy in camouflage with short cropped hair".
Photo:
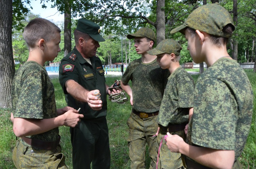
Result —
<svg viewBox="0 0 256 169"><path fill-rule="evenodd" d="M14 134L20 137L12 159L18 169L67 169L58 127L75 127L84 116L71 107L56 109L54 87L43 67L60 51L60 28L36 18L25 27L23 37L29 55L12 81L11 120Z"/></svg>

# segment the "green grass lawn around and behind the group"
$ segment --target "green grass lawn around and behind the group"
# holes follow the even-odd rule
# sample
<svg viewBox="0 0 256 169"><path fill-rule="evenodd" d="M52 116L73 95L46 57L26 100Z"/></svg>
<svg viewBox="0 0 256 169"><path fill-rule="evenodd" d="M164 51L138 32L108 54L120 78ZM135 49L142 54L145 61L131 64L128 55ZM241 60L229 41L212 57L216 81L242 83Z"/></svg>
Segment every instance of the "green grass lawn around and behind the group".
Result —
<svg viewBox="0 0 256 169"><path fill-rule="evenodd" d="M256 73L252 70L246 70L251 81L254 92L254 109L251 130L244 147L244 152L239 158L244 169L256 169ZM192 75L196 82L199 75ZM106 83L111 85L114 81L121 79L121 76L107 76ZM55 87L55 97L57 108L66 106L65 96L59 84L58 79L52 80ZM129 98L128 98L129 100ZM108 101L107 122L109 128L109 144L111 152L111 169L129 169L129 149L127 145L128 126L126 121L131 113L131 105L129 102L125 104L111 103ZM72 146L70 143L69 127L59 127L61 135L62 152L66 157L66 165L72 169ZM12 132L12 122L10 120L10 110L0 109L0 168L14 169L12 162L12 149L15 144L16 137ZM86 153L86 152L85 152ZM146 168L149 168L150 158L146 156ZM249 166L249 167L248 167Z"/></svg>

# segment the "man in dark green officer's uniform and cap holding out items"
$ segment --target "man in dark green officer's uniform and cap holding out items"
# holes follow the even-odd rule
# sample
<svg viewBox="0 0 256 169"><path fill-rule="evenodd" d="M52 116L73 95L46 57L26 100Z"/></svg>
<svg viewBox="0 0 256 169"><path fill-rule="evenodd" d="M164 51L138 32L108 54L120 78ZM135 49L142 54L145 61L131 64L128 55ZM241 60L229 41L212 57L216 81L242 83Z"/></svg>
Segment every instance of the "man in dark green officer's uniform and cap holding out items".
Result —
<svg viewBox="0 0 256 169"><path fill-rule="evenodd" d="M100 26L90 20L78 19L74 31L76 46L60 62L59 80L66 102L75 109L81 108L84 118L70 128L73 168L110 168L110 150L107 125L107 93L105 71L96 57ZM112 85L113 86L113 85ZM99 92L100 100L94 96ZM112 94L119 92L114 90Z"/></svg>

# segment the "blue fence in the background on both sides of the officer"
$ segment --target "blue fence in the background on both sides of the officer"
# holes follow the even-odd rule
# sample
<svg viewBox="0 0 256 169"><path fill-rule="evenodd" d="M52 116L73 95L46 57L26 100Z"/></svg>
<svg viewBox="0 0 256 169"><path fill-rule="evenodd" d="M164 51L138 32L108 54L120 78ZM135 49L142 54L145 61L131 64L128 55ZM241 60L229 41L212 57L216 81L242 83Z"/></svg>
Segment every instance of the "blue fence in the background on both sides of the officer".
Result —
<svg viewBox="0 0 256 169"><path fill-rule="evenodd" d="M48 73L59 73L60 62L50 63L49 66L45 66ZM124 71L127 65L124 65ZM103 65L105 72L121 72L121 65Z"/></svg>

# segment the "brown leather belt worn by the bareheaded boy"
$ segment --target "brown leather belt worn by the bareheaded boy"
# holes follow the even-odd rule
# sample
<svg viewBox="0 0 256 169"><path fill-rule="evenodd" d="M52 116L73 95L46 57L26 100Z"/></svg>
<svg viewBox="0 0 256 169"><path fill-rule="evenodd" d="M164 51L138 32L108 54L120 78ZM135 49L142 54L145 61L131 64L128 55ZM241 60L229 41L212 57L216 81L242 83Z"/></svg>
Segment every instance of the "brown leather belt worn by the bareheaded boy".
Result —
<svg viewBox="0 0 256 169"><path fill-rule="evenodd" d="M52 142L42 141L35 138L21 137L21 139L32 147L36 147L38 149L43 150L52 150L55 149L60 143L60 135L58 135L58 139Z"/></svg>

